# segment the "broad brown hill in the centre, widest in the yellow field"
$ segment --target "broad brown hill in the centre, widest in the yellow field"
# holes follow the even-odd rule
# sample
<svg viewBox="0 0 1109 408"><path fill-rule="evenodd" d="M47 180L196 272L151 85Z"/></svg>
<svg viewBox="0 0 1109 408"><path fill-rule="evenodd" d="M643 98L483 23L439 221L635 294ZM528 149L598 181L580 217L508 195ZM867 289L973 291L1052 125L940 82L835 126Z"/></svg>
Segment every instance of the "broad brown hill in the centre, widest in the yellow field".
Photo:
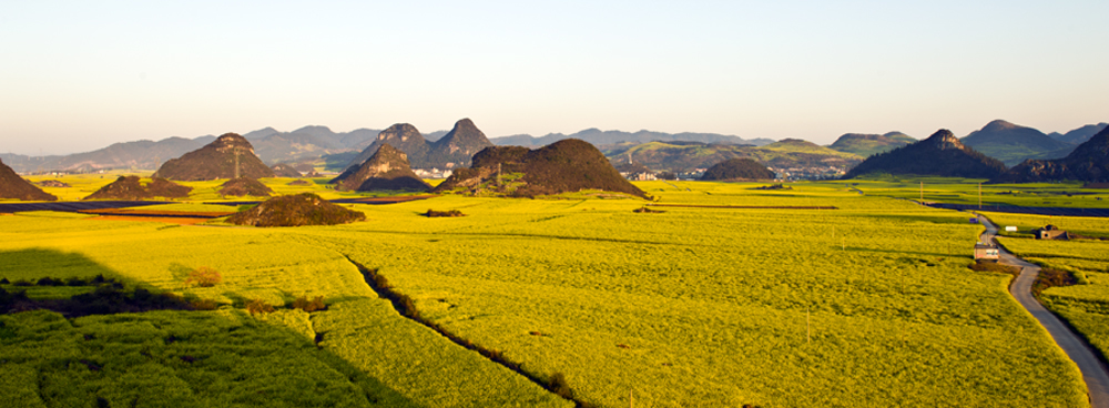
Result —
<svg viewBox="0 0 1109 408"><path fill-rule="evenodd" d="M577 139L561 140L536 150L486 147L474 155L469 169L456 170L433 192L536 196L581 190L647 196L620 176L597 147Z"/></svg>

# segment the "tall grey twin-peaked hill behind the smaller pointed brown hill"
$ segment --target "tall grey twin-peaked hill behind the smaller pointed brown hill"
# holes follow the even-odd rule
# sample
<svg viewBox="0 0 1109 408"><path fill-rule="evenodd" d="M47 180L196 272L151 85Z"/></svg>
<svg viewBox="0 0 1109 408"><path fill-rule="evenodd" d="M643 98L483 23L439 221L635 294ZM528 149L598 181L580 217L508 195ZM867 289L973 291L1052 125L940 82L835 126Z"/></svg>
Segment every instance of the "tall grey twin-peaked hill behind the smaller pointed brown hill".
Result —
<svg viewBox="0 0 1109 408"><path fill-rule="evenodd" d="M474 121L462 119L455 128L435 142L408 123L397 123L381 131L366 150L355 156L347 167L362 165L384 145L397 147L408 156L409 165L416 169L461 169L470 165L470 157L485 147L492 146Z"/></svg>

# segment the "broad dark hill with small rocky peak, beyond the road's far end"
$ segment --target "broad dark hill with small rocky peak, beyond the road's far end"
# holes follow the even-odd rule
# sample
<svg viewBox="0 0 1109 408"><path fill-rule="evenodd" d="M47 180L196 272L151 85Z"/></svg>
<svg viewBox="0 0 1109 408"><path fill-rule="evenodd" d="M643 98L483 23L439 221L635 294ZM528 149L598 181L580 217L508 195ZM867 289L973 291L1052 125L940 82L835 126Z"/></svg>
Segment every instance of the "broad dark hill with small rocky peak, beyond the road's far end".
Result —
<svg viewBox="0 0 1109 408"><path fill-rule="evenodd" d="M964 145L950 131L942 129L928 139L875 154L852 169L844 178L868 173L993 178L1005 164Z"/></svg>

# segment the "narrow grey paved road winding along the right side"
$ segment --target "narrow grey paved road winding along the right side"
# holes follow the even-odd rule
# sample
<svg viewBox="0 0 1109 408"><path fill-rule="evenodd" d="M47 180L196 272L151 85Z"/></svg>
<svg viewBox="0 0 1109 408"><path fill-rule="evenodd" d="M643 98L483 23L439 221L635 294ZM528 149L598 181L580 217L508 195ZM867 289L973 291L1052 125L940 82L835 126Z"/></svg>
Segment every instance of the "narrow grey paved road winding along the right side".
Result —
<svg viewBox="0 0 1109 408"><path fill-rule="evenodd" d="M986 226L986 233L983 234L983 242L986 242L986 235L997 234L997 226L985 217L979 217L979 220ZM1028 313L1031 313L1039 320L1040 325L1055 338L1055 343L1059 345L1059 348L1062 348L1067 353L1067 356L1082 370L1082 380L1086 381L1086 387L1090 391L1090 406L1095 408L1109 408L1109 374L1106 374L1106 367L1090 351L1086 344L1070 332L1069 327L1059 322L1058 317L1048 312L1044 305L1032 297L1032 283L1036 282L1036 276L1039 275L1039 266L1029 264L1005 249L1001 249L1000 253L1001 264L1020 267L1020 276L1009 287L1009 293L1020 303L1020 306L1024 306Z"/></svg>

